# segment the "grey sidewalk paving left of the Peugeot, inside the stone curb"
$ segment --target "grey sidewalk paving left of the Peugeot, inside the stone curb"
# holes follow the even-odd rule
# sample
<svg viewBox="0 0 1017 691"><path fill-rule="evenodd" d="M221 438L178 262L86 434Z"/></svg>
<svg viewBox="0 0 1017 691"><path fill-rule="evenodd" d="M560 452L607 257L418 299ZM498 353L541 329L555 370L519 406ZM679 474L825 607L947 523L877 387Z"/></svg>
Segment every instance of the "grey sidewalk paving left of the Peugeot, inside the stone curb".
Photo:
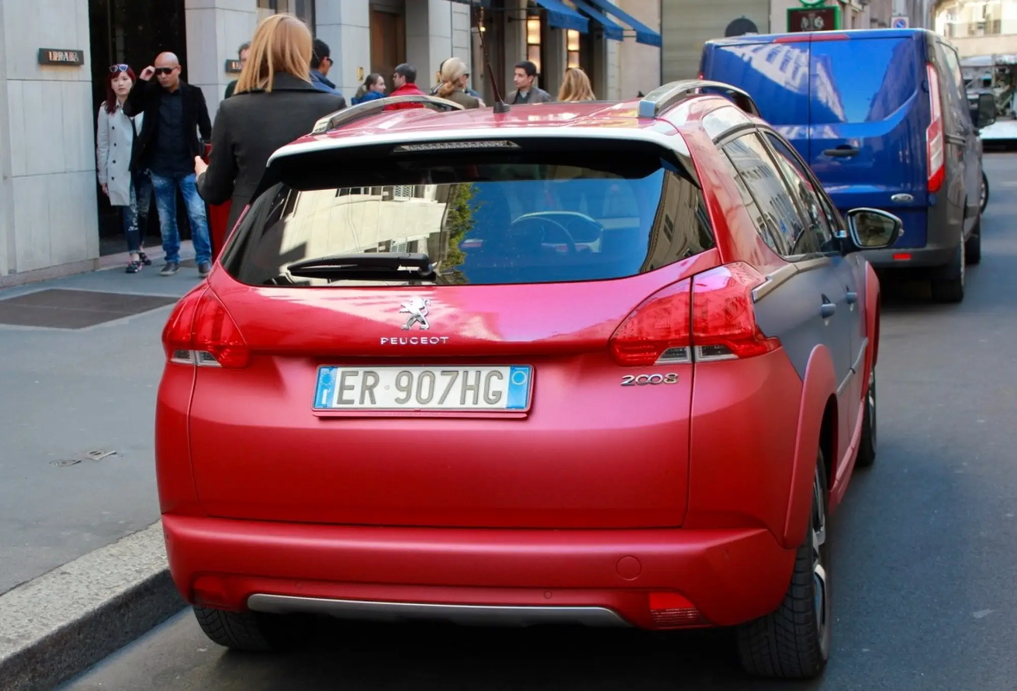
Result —
<svg viewBox="0 0 1017 691"><path fill-rule="evenodd" d="M160 335L200 279L151 255L0 289L0 593L159 519Z"/></svg>

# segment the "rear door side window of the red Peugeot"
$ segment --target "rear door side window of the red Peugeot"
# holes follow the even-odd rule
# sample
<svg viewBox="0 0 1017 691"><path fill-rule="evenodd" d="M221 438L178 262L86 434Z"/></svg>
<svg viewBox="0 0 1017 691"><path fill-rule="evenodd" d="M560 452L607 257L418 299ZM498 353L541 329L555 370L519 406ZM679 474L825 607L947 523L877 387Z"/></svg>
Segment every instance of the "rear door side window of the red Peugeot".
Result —
<svg viewBox="0 0 1017 691"><path fill-rule="evenodd" d="M756 199L767 227L782 238L781 256L793 262L816 254L815 235L802 221L787 183L759 135L743 134L723 149Z"/></svg>

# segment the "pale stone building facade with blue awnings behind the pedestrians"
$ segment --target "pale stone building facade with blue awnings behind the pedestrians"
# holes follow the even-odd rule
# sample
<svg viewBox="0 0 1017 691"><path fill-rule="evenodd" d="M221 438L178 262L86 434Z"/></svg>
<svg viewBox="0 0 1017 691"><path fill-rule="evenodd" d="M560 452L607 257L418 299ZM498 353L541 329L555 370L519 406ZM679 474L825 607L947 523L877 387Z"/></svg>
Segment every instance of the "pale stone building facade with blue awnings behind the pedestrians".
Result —
<svg viewBox="0 0 1017 691"><path fill-rule="evenodd" d="M502 98L513 91L527 58L552 96L570 66L590 74L600 99L660 83L659 0L0 0L0 285L88 271L125 249L96 179L109 65L139 73L172 51L215 116L238 47L276 12L328 44L328 78L348 100L367 74L390 77L401 62L426 90L453 55L471 65L488 105L495 87Z"/></svg>

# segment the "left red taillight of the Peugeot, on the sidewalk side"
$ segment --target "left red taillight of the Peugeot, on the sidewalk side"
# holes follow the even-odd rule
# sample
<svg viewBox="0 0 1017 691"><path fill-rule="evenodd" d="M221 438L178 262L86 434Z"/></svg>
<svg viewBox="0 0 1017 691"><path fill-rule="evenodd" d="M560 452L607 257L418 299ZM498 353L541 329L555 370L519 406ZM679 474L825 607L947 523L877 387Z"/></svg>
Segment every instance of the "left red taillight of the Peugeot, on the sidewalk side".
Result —
<svg viewBox="0 0 1017 691"><path fill-rule="evenodd" d="M201 367L247 366L250 350L240 329L212 289L183 297L163 329L166 358Z"/></svg>

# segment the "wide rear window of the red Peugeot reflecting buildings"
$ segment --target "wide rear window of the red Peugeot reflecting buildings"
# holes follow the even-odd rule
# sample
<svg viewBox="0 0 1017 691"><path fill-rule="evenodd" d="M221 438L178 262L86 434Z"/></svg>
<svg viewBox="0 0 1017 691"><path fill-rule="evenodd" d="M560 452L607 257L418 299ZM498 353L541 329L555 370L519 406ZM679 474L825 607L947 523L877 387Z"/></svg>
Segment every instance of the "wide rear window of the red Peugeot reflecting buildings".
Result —
<svg viewBox="0 0 1017 691"><path fill-rule="evenodd" d="M287 157L223 263L257 286L491 285L623 278L713 246L703 195L680 162L631 141L623 155L585 149ZM373 253L426 254L433 272L306 270Z"/></svg>

